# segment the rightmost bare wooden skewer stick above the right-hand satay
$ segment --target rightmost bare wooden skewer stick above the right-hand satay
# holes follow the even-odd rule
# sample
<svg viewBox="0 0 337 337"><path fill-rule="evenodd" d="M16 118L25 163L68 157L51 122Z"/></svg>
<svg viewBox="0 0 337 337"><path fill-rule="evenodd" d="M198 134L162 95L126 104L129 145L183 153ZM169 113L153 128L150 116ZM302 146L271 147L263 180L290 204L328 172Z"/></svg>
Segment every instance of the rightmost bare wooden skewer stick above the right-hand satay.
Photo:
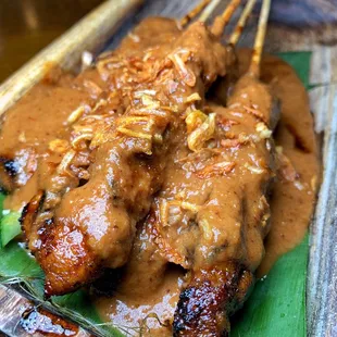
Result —
<svg viewBox="0 0 337 337"><path fill-rule="evenodd" d="M257 77L260 76L260 63L270 10L271 10L271 0L263 0L261 15L258 25L258 33L254 41L253 54L249 66L249 73Z"/></svg>

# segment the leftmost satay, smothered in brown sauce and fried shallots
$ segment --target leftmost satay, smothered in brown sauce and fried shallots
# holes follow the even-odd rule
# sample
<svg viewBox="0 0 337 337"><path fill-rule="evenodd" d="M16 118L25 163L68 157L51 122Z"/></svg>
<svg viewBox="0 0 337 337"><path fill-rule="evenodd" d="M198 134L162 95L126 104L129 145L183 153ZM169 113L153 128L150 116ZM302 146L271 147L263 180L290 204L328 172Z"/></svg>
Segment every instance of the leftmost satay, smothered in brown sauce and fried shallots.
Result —
<svg viewBox="0 0 337 337"><path fill-rule="evenodd" d="M162 29L158 33L159 25ZM115 51L102 54L97 67L90 67L75 78L53 71L4 115L0 134L3 145L0 188L11 194L7 200L11 209L22 209L37 192L38 176L41 180L52 174L72 148L77 152L73 161L73 165L77 162L78 166L76 175L80 179L88 175L86 167L91 150L87 149L86 142L111 125L128 104L128 97L118 95L118 89L128 85L137 66L141 66L145 50L155 53L153 48L173 41L179 35L175 21L147 18ZM49 113L43 113L46 109ZM40 123L43 128L39 127ZM45 163L42 167L41 163Z"/></svg>

